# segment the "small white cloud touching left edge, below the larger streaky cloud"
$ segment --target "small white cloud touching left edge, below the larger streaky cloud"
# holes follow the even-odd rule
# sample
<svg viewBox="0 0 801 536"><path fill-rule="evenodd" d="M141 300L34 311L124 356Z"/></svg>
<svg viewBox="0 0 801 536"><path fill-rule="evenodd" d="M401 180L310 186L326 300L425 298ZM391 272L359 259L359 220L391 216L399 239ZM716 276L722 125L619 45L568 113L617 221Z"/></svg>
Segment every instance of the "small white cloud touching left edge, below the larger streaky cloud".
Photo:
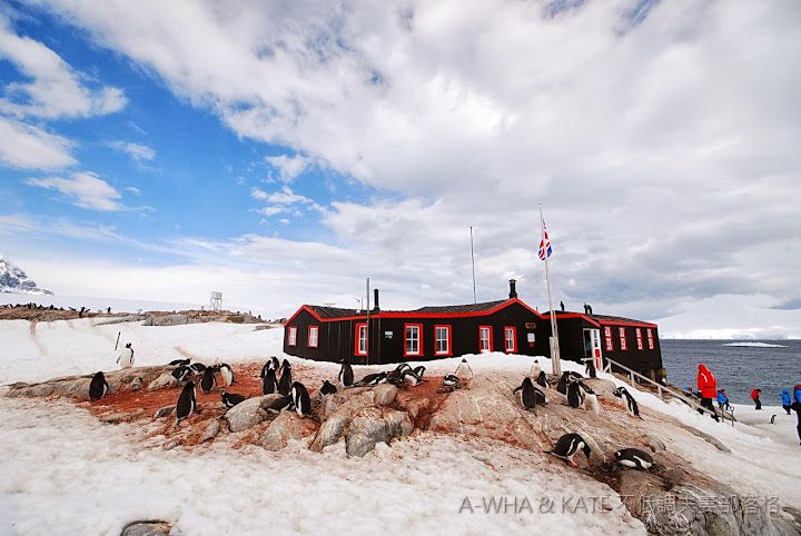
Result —
<svg viewBox="0 0 801 536"><path fill-rule="evenodd" d="M78 163L67 138L0 117L0 160L13 168L60 169Z"/></svg>

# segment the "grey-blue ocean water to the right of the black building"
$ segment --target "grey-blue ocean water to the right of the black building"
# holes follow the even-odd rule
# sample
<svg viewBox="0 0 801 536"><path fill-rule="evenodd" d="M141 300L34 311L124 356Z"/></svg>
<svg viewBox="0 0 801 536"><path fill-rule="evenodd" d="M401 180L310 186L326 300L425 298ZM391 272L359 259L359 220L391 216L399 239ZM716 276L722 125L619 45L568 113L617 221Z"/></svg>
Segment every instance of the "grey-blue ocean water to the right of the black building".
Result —
<svg viewBox="0 0 801 536"><path fill-rule="evenodd" d="M731 344L770 346L729 346ZM801 340L660 339L668 381L698 387L698 366L706 365L734 404L753 404L751 390L762 389L762 405L781 404L782 389L801 384Z"/></svg>

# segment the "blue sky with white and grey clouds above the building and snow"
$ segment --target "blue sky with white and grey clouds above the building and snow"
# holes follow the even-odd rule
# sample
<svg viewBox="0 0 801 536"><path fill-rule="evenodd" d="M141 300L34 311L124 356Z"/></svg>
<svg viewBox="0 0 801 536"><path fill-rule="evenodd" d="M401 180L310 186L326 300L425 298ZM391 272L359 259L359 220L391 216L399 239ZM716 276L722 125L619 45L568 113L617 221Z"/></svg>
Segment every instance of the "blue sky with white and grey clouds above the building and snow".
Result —
<svg viewBox="0 0 801 536"><path fill-rule="evenodd" d="M472 227L544 310L543 204L567 309L801 332L801 2L0 13L0 251L57 294L468 304Z"/></svg>

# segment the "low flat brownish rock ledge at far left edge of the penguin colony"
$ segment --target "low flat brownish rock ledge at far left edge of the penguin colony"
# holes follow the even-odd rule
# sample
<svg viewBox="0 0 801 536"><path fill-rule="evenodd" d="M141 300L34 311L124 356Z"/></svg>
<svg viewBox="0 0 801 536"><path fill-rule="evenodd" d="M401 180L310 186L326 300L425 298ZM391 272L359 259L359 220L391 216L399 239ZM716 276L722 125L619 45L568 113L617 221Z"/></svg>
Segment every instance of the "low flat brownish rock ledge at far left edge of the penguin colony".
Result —
<svg viewBox="0 0 801 536"><path fill-rule="evenodd" d="M138 390L145 385L150 385L160 376L172 371L175 367L135 367L121 370L103 373L109 384L109 393L120 390ZM89 398L89 383L95 373L85 376L67 376L55 378L39 384L17 383L9 386L7 397L44 397L58 396L70 398Z"/></svg>

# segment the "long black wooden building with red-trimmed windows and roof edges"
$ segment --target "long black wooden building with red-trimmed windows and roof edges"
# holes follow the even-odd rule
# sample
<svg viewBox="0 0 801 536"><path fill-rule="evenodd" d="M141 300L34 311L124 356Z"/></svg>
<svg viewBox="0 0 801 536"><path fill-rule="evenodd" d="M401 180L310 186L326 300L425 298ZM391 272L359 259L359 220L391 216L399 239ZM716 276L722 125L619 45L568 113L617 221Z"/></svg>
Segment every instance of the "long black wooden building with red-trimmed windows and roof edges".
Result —
<svg viewBox="0 0 801 536"><path fill-rule="evenodd" d="M369 314L304 305L285 324L284 351L318 361L356 365L432 360L501 351L551 356L551 318L518 297L461 306L385 311L378 291ZM582 363L607 357L659 379L662 357L656 325L603 315L557 311L560 355Z"/></svg>

